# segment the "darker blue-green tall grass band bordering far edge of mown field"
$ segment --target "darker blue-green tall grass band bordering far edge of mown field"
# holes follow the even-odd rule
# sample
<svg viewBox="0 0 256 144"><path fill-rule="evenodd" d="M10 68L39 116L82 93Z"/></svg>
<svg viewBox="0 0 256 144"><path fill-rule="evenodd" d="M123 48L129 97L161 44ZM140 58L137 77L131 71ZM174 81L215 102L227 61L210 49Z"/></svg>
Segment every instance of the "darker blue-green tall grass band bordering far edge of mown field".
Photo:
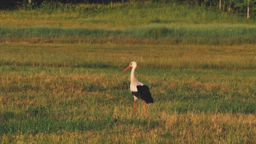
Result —
<svg viewBox="0 0 256 144"><path fill-rule="evenodd" d="M59 27L0 27L1 41L28 43L123 43L141 44L255 44L255 26L142 26L120 29L59 28ZM131 40L136 39L136 40ZM93 41L93 42L91 42ZM121 42L123 41L123 42Z"/></svg>

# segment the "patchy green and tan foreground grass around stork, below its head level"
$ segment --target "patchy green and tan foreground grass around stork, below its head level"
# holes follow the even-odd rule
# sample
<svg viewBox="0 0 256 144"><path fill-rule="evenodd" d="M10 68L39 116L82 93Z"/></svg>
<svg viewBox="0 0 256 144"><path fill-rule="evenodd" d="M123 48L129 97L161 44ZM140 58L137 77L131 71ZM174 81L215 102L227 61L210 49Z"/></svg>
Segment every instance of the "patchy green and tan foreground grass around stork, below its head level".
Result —
<svg viewBox="0 0 256 144"><path fill-rule="evenodd" d="M253 70L140 69L137 77L153 87L155 103L147 105L147 117L138 103L133 117L122 69L12 67L1 67L0 134L9 142L103 142L108 134L108 142L129 142L133 133L136 142L253 142Z"/></svg>

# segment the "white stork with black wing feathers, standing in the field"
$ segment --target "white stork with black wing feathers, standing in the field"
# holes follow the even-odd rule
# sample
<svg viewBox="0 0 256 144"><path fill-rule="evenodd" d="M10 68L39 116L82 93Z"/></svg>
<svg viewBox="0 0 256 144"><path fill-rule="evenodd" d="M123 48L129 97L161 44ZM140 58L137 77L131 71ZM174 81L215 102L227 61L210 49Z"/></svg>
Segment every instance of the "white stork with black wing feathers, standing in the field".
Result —
<svg viewBox="0 0 256 144"><path fill-rule="evenodd" d="M130 89L131 89L131 93L133 95L134 98L134 105L133 105L133 115L135 115L135 110L136 110L136 101L137 99L142 99L142 103L143 103L143 109L144 109L144 115L146 115L146 106L145 106L145 101L147 104L149 103L154 103L154 100L152 98L152 95L149 91L148 86L144 85L142 82L139 82L136 78L135 78L135 69L137 67L137 63L135 61L131 62L129 64L129 66L123 71L123 73L127 70L129 70L130 68L132 68L131 70L131 84L130 84Z"/></svg>

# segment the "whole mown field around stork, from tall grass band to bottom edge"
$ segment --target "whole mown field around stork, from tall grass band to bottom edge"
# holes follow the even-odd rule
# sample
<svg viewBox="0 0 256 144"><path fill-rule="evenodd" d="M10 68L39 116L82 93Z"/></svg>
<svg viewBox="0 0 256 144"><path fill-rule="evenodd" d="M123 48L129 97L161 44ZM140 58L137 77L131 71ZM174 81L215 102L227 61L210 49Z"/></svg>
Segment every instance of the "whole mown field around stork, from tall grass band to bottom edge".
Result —
<svg viewBox="0 0 256 144"><path fill-rule="evenodd" d="M2 142L255 142L255 67L245 69L249 61L218 69L165 61L181 52L208 57L207 50L223 59L250 57L253 46L155 46L2 44ZM141 101L132 116L130 74L121 73L133 49L162 57L135 59L136 77L152 87L155 100L146 117Z"/></svg>

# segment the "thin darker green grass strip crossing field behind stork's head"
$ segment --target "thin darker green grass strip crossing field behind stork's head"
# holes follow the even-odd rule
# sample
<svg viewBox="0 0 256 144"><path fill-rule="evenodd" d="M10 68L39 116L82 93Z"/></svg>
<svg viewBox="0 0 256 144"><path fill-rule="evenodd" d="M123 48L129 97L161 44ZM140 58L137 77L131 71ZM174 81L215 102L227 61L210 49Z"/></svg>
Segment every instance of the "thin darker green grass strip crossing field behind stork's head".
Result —
<svg viewBox="0 0 256 144"><path fill-rule="evenodd" d="M189 62L184 62L184 65L150 65L145 64L142 67L149 69L255 69L254 63L249 63L248 65L239 65L236 63L224 62L223 64L212 64L212 63L199 63L196 66L190 64ZM188 64L187 64L188 63ZM119 66L114 64L107 64L103 62L20 62L20 61L0 61L0 66L28 66L28 67L69 67L69 68L100 68L100 69L113 69L119 68Z"/></svg>

